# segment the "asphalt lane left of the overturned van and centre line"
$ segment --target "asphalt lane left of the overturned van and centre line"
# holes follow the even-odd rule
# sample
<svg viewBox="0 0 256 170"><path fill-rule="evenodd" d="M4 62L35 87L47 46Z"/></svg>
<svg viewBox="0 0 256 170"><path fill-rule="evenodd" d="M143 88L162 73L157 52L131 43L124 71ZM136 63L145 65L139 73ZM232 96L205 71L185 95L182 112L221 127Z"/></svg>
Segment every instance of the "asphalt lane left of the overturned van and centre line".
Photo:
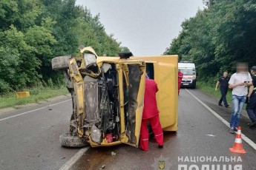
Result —
<svg viewBox="0 0 256 170"><path fill-rule="evenodd" d="M1 114L0 169L59 169L79 151L59 145L70 112L70 97L64 97Z"/></svg>

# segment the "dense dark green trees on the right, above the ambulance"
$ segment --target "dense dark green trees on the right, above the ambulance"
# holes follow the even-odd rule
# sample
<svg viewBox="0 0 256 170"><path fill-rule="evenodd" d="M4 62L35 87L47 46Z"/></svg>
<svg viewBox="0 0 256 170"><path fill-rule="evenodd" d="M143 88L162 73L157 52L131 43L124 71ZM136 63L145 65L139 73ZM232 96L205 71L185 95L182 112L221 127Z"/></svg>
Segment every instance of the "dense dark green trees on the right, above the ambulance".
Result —
<svg viewBox="0 0 256 170"><path fill-rule="evenodd" d="M182 61L194 61L204 81L216 78L224 70L235 72L237 61L248 62L250 67L256 65L256 1L205 3L205 9L183 21L180 35L165 54L178 54Z"/></svg>

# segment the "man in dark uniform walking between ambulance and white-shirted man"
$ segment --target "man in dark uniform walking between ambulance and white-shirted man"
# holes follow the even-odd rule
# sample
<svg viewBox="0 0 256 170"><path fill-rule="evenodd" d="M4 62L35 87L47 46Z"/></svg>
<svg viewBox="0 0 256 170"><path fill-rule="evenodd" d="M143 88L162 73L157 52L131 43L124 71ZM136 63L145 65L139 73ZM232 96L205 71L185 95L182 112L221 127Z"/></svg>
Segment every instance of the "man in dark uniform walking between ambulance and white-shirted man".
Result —
<svg viewBox="0 0 256 170"><path fill-rule="evenodd" d="M215 86L215 91L217 91L219 84L220 84L220 94L221 94L219 106L222 106L221 103L223 102L224 106L229 107L229 104L226 101L226 94L229 89L229 77L228 77L227 71L223 72L223 76L218 79L217 84Z"/></svg>

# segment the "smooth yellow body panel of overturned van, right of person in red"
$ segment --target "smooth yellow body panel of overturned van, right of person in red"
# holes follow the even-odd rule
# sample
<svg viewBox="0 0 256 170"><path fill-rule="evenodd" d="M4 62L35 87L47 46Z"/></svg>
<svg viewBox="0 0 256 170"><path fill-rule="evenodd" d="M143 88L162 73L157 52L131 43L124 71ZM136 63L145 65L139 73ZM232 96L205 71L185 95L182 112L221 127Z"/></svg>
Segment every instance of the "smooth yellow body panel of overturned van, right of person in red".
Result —
<svg viewBox="0 0 256 170"><path fill-rule="evenodd" d="M178 129L178 55L159 55L151 57L135 57L146 64L154 61L154 81L157 92L157 107L160 111L160 123L164 131ZM147 72L147 70L146 70Z"/></svg>

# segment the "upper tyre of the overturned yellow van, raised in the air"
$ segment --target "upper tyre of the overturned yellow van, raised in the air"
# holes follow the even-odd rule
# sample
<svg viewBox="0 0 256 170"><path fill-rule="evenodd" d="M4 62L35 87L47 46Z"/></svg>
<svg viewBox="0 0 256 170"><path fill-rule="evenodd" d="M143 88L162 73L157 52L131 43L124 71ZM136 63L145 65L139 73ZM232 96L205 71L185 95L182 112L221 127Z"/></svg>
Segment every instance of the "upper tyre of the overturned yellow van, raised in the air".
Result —
<svg viewBox="0 0 256 170"><path fill-rule="evenodd" d="M68 69L68 60L71 56L59 56L51 60L51 67L55 70Z"/></svg>

